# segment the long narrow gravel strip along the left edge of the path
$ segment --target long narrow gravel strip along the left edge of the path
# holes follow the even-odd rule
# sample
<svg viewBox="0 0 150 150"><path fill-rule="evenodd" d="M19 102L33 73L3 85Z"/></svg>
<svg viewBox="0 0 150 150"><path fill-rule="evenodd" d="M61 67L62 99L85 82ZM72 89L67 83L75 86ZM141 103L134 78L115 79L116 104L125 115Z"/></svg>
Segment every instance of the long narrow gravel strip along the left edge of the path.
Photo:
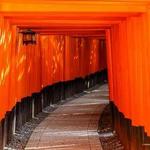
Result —
<svg viewBox="0 0 150 150"><path fill-rule="evenodd" d="M91 91L94 89L97 89L100 85L96 85L95 87L88 89L87 91ZM57 109L57 107L59 105L63 105L65 103L67 103L68 101L74 100L75 98L78 98L80 96L83 96L84 94L86 94L86 91L80 94L76 94L70 98L67 98L66 100L62 100L61 102L59 102L56 105L53 106L48 106L46 107L43 112L41 112L40 114L38 114L36 116L36 118L32 119L30 122L27 122L21 129L19 129L18 131L16 131L16 134L13 135L10 143L8 145L6 145L5 150L24 150L25 146L33 132L33 130L51 113L53 112L55 109Z"/></svg>

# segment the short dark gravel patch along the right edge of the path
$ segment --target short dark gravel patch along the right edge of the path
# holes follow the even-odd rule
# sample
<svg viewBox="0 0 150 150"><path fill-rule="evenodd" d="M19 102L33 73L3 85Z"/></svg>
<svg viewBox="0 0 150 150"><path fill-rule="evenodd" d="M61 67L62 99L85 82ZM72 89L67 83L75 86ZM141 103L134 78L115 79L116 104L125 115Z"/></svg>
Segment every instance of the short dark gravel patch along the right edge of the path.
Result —
<svg viewBox="0 0 150 150"><path fill-rule="evenodd" d="M117 133L113 131L110 105L106 106L101 116L98 132L103 150L124 150Z"/></svg>

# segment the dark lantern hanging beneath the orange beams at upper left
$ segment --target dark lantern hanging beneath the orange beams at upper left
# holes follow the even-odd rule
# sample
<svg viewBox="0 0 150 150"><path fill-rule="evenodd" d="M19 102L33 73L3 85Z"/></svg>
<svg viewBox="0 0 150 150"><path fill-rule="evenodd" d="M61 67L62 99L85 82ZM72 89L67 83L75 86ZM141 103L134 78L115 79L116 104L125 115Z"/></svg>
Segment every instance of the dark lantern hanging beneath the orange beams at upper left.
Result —
<svg viewBox="0 0 150 150"><path fill-rule="evenodd" d="M31 29L27 29L21 32L23 37L23 45L28 45L28 44L36 44L36 32L32 31Z"/></svg>

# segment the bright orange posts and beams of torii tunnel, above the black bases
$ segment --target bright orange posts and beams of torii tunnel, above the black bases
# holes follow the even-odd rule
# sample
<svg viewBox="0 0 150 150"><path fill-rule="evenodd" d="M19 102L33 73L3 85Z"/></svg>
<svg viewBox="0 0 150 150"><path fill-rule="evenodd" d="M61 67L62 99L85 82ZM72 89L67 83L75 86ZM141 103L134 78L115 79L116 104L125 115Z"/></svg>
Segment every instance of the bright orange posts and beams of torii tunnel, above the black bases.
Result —
<svg viewBox="0 0 150 150"><path fill-rule="evenodd" d="M107 68L110 101L150 136L149 4L1 0L0 119L22 98L48 85ZM37 33L35 45L22 43L23 29Z"/></svg>

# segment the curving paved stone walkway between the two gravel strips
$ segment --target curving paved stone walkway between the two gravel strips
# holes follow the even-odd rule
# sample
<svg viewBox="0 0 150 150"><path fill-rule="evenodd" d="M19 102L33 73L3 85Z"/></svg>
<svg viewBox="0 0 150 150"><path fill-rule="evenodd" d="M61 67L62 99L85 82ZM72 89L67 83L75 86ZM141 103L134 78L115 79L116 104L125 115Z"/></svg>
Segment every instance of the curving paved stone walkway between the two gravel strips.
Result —
<svg viewBox="0 0 150 150"><path fill-rule="evenodd" d="M26 150L102 150L97 133L109 103L107 85L60 105L37 126Z"/></svg>

